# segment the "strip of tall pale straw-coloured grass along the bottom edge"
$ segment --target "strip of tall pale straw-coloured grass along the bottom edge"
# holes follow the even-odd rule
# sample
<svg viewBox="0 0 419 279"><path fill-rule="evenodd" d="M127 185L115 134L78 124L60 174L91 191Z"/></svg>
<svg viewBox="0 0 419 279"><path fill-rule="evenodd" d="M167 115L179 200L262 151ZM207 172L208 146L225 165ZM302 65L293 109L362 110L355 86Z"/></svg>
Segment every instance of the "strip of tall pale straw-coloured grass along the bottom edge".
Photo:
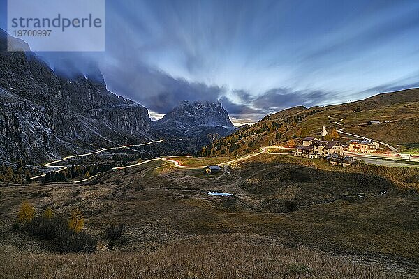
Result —
<svg viewBox="0 0 419 279"><path fill-rule="evenodd" d="M147 254L0 254L2 278L406 278L260 236L199 236ZM68 264L70 263L71 264Z"/></svg>

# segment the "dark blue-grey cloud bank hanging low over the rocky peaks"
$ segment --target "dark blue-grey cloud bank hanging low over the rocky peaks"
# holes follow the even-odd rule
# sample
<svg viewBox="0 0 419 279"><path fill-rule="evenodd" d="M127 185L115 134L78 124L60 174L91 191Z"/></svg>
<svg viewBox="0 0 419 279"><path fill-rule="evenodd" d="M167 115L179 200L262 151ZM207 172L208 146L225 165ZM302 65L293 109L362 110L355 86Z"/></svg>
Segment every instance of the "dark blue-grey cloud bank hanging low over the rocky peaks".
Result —
<svg viewBox="0 0 419 279"><path fill-rule="evenodd" d="M136 57L120 54L117 65L100 67L99 57L91 59L78 53L57 55L48 53L49 61L57 74L74 78L80 75L102 81L98 71L102 68L110 91L141 103L149 110L165 114L183 100L216 102L225 93L221 86L208 86L200 82L188 82L175 78L149 66Z"/></svg>

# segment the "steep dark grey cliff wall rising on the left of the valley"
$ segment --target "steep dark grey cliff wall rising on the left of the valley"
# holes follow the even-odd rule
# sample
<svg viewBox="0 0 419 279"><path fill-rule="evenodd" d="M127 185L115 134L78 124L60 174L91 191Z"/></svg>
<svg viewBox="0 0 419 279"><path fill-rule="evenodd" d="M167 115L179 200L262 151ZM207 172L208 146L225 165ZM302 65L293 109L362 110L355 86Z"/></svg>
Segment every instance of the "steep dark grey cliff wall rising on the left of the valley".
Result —
<svg viewBox="0 0 419 279"><path fill-rule="evenodd" d="M57 73L32 52L7 52L0 29L1 159L40 163L149 140L147 109L108 91L98 70L86 77Z"/></svg>

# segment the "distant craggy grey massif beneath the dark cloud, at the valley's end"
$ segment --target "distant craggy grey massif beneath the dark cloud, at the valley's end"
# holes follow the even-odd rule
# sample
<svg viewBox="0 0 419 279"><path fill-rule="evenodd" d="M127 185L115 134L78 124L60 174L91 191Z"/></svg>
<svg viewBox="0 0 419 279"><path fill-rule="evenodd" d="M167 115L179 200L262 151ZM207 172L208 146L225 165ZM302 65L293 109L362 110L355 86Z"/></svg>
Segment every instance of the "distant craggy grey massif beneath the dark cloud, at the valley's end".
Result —
<svg viewBox="0 0 419 279"><path fill-rule="evenodd" d="M181 137L202 137L215 133L225 136L235 128L221 103L188 101L154 121L152 127L161 133Z"/></svg>

